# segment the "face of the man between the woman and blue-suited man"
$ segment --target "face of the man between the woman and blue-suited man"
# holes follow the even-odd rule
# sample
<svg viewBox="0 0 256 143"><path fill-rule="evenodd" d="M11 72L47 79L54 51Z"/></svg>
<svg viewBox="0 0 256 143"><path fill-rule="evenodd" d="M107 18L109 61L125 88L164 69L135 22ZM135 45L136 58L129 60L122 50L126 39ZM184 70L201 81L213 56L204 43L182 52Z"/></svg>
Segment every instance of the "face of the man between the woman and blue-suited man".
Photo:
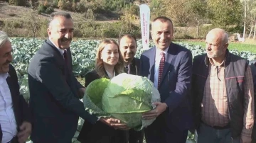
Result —
<svg viewBox="0 0 256 143"><path fill-rule="evenodd" d="M134 38L124 36L119 41L119 47L124 62L132 62L132 59L134 58L137 51L136 41L134 40Z"/></svg>

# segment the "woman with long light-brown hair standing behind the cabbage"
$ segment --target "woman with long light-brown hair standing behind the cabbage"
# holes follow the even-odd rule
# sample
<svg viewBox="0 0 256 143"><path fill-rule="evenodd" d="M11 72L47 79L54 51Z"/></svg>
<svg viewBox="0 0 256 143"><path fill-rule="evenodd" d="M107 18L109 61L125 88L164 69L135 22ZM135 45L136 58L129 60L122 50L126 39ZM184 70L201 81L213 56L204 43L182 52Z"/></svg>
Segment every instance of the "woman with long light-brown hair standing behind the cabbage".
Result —
<svg viewBox="0 0 256 143"><path fill-rule="evenodd" d="M95 79L112 79L124 70L124 59L114 40L103 40L96 54L95 69L85 75L85 87ZM114 122L115 120L115 122ZM82 143L125 143L127 126L112 118L112 125L96 122L94 125L85 120L78 141Z"/></svg>

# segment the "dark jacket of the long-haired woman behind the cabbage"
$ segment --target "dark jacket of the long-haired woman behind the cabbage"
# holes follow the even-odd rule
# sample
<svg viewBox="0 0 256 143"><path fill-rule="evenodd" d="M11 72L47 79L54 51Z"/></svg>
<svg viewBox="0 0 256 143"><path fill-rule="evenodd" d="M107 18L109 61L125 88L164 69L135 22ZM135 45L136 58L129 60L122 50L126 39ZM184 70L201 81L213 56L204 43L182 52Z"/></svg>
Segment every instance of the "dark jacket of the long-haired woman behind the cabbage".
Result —
<svg viewBox="0 0 256 143"><path fill-rule="evenodd" d="M105 73L107 75L107 72ZM99 74L95 70L88 72L85 75L85 87L87 87L95 79L100 79ZM107 79L109 79L107 77ZM124 143L125 132L122 130L115 130L102 122L97 122L92 125L85 121L78 136L78 141L86 143Z"/></svg>

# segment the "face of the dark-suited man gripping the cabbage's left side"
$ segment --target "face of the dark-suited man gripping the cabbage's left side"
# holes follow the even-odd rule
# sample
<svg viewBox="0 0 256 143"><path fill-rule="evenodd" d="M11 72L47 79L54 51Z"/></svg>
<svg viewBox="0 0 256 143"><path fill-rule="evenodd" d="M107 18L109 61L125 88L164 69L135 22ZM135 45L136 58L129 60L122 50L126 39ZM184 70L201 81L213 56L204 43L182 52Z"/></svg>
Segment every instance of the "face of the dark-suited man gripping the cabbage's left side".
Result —
<svg viewBox="0 0 256 143"><path fill-rule="evenodd" d="M60 49L67 49L73 38L73 21L64 16L55 16L47 30L50 40Z"/></svg>

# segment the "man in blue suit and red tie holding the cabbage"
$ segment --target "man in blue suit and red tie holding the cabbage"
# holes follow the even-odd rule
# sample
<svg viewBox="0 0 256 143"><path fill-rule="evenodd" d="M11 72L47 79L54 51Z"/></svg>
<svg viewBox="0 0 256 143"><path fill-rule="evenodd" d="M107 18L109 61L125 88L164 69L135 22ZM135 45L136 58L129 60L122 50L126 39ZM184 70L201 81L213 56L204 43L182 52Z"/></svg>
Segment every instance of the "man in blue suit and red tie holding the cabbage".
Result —
<svg viewBox="0 0 256 143"><path fill-rule="evenodd" d="M140 73L158 88L161 102L142 118L156 120L145 128L146 142L186 142L192 125L188 91L191 84L191 51L171 42L173 23L164 16L154 19L151 36L155 46L141 56Z"/></svg>

